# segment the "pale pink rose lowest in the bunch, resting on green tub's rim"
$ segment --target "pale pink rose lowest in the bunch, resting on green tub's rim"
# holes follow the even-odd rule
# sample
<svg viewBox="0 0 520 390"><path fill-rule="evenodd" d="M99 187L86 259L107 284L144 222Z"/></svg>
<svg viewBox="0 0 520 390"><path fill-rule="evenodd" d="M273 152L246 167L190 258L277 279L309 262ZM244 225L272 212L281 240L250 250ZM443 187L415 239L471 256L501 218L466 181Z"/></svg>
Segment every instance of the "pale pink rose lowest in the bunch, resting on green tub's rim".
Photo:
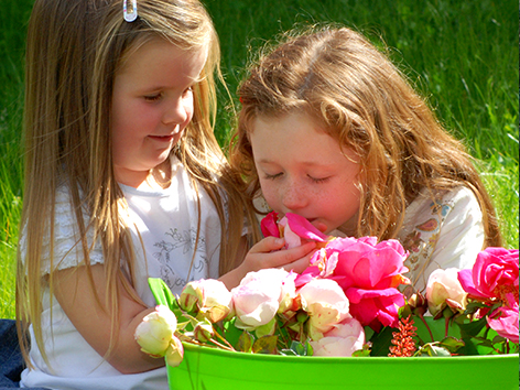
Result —
<svg viewBox="0 0 520 390"><path fill-rule="evenodd" d="M314 356L345 356L350 357L356 350L362 349L365 331L355 318L347 318L334 326L317 340L311 340Z"/></svg>

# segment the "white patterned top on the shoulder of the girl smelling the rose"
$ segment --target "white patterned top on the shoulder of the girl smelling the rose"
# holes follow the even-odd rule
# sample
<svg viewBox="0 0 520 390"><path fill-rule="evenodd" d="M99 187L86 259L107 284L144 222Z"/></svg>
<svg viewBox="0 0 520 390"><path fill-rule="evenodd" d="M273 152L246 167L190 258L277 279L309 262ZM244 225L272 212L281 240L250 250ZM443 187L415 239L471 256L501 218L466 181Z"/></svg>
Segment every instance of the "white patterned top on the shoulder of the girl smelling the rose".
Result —
<svg viewBox="0 0 520 390"><path fill-rule="evenodd" d="M407 207L398 239L410 254L405 275L418 291L425 290L430 274L441 268L472 268L483 250L483 212L467 187L444 191L433 198L422 191Z"/></svg>

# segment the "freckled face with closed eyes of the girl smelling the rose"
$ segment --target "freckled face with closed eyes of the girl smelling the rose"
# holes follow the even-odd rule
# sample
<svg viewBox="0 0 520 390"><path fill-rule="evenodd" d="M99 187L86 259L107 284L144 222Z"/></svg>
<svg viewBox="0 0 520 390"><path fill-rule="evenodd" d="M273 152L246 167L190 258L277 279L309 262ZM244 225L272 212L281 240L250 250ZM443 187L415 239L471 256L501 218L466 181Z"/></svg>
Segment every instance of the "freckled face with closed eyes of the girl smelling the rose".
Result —
<svg viewBox="0 0 520 390"><path fill-rule="evenodd" d="M342 153L331 136L303 112L257 118L250 142L269 206L325 224L326 232L355 229L359 209L358 158Z"/></svg>

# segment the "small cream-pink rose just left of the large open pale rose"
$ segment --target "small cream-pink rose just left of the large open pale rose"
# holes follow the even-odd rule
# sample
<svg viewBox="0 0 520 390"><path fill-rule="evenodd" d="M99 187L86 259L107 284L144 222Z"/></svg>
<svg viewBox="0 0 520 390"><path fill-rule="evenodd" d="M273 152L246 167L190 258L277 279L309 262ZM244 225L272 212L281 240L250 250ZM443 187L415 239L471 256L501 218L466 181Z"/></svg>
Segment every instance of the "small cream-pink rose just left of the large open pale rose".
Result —
<svg viewBox="0 0 520 390"><path fill-rule="evenodd" d="M212 323L226 318L232 311L231 293L221 281L215 279L187 283L178 301L183 310L202 313Z"/></svg>

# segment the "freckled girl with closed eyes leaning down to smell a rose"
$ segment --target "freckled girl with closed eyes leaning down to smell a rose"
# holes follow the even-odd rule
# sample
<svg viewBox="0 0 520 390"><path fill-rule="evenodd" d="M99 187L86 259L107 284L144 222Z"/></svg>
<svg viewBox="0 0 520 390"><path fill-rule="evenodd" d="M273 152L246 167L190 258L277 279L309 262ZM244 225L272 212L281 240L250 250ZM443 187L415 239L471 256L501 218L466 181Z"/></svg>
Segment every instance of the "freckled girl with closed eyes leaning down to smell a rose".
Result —
<svg viewBox="0 0 520 390"><path fill-rule="evenodd" d="M231 164L251 201L332 235L399 239L419 290L434 269L468 268L501 245L463 144L361 34L288 34L250 67L239 97Z"/></svg>

